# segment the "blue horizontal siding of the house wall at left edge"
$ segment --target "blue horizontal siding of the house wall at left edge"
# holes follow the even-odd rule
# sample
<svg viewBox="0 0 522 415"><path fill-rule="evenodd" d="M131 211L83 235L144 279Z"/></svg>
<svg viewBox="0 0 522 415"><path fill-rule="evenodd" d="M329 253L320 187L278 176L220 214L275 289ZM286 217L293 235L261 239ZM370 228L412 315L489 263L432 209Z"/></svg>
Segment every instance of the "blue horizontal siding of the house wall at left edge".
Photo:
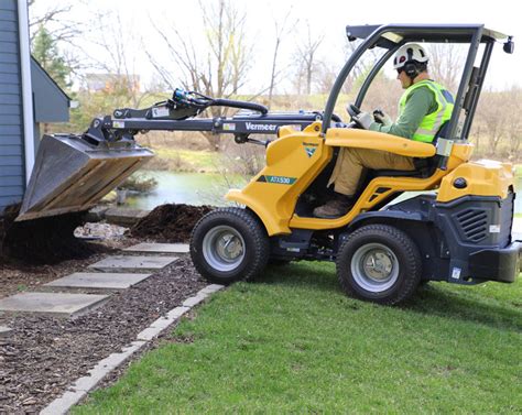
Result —
<svg viewBox="0 0 522 415"><path fill-rule="evenodd" d="M0 0L0 212L25 187L17 8L17 0Z"/></svg>

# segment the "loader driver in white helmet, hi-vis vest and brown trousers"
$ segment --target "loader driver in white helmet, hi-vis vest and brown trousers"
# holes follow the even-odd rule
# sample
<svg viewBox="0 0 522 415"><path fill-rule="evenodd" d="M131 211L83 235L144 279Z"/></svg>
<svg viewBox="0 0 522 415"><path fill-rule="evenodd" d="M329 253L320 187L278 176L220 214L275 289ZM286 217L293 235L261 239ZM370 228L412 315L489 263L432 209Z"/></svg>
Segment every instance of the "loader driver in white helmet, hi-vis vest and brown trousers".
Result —
<svg viewBox="0 0 522 415"><path fill-rule="evenodd" d="M405 89L399 100L399 117L377 111L354 117L359 127L415 141L432 143L441 127L452 118L454 98L443 86L429 79L428 56L418 44L401 46L393 57L396 78ZM317 218L338 218L355 204L354 195L365 168L413 171L413 157L381 150L341 148L328 186L334 184L335 197L314 209Z"/></svg>

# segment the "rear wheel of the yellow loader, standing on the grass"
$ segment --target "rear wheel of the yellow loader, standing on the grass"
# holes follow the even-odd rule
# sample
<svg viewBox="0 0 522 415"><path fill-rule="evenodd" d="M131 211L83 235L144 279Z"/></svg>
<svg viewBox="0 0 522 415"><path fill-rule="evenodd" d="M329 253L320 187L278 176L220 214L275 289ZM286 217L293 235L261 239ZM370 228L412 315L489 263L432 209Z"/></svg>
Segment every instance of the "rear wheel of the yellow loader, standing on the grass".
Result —
<svg viewBox="0 0 522 415"><path fill-rule="evenodd" d="M356 298L395 305L410 298L421 281L422 260L413 240L388 225L368 225L339 249L337 276Z"/></svg>

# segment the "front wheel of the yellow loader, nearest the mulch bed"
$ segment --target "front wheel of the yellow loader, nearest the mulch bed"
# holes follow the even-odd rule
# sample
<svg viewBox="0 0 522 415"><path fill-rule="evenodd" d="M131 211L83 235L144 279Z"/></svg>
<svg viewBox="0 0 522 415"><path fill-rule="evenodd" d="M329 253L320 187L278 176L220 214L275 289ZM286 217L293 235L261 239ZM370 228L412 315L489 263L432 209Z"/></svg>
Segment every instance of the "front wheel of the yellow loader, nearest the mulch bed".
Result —
<svg viewBox="0 0 522 415"><path fill-rule="evenodd" d="M209 282L230 284L252 280L269 260L267 231L249 210L214 210L196 223L191 237L191 258Z"/></svg>

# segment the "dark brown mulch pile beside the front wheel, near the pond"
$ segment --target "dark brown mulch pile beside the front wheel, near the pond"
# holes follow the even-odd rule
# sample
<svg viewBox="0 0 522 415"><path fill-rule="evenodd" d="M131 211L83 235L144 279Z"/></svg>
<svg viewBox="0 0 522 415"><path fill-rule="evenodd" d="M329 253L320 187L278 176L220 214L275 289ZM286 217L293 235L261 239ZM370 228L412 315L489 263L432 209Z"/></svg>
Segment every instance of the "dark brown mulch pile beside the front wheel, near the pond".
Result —
<svg viewBox="0 0 522 415"><path fill-rule="evenodd" d="M134 238L154 238L157 242L186 242L197 221L215 208L167 204L156 207L130 229Z"/></svg>

